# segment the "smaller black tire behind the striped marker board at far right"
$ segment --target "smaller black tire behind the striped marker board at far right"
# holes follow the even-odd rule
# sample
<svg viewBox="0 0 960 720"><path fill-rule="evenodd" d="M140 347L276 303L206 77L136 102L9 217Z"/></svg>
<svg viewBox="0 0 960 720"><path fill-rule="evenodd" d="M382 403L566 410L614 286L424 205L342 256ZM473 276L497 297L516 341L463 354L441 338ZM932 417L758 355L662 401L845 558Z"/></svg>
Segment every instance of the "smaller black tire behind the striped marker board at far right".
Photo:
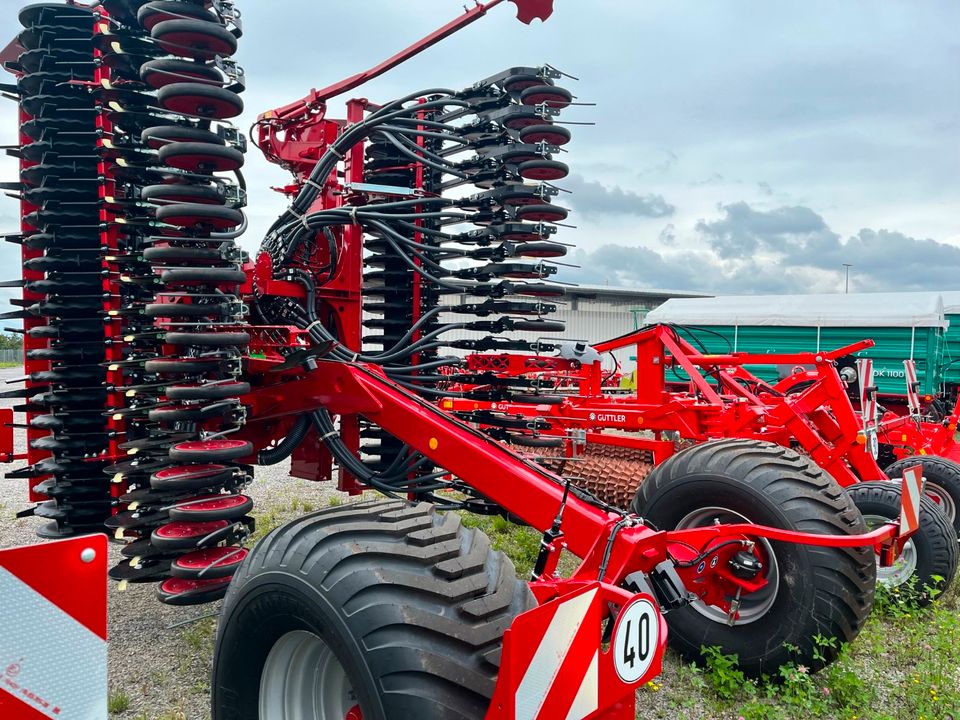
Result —
<svg viewBox="0 0 960 720"><path fill-rule="evenodd" d="M885 480L862 482L847 488L860 514L870 527L882 524L882 520L900 517L900 484ZM871 522L871 519L874 522ZM912 546L912 549L911 549ZM907 594L918 605L929 605L934 596L950 586L957 572L957 534L937 504L927 496L920 498L920 528L914 533L901 562L911 555L916 569L907 579L896 577L898 566L889 571L879 569L877 582L896 588ZM931 595L927 588L937 590Z"/></svg>

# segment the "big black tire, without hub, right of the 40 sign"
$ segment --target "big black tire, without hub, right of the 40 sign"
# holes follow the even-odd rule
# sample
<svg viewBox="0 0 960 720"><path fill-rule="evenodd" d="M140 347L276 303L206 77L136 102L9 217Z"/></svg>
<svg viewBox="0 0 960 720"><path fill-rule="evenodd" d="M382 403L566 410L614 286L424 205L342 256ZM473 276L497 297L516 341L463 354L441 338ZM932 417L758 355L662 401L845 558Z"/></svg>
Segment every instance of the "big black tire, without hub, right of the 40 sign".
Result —
<svg viewBox="0 0 960 720"><path fill-rule="evenodd" d="M809 458L754 440L718 440L673 455L640 484L631 507L661 530L704 508L726 508L750 522L801 532L866 531L853 500ZM836 650L817 648L818 633L844 643L857 636L873 607L873 549L778 542L768 547L777 565L777 584L771 576L768 587L776 591L755 594L753 602L764 604L750 622L731 627L707 617L710 610L702 605L666 616L670 641L684 657L700 660L701 647L720 646L755 677L775 674L788 662L818 669L832 661ZM750 598L743 598L742 613ZM827 650L825 657L815 657L821 650Z"/></svg>

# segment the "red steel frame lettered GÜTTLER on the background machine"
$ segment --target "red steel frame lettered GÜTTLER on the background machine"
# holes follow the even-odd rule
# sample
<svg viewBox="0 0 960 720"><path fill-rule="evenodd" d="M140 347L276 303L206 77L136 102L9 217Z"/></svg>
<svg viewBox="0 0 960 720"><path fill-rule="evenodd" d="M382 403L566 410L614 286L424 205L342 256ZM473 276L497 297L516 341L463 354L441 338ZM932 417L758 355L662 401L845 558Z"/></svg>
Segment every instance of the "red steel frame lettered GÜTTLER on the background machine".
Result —
<svg viewBox="0 0 960 720"><path fill-rule="evenodd" d="M600 363L575 371L579 391L565 396L560 404L532 405L519 402L483 402L445 398L444 409L459 412L494 410L524 417L546 418L553 428L544 434L566 437L570 429L585 432L587 443L620 445L651 450L657 463L674 452L666 431L687 440L739 437L765 440L780 445L799 444L841 485L859 480L880 480L886 476L866 450L863 424L847 396L833 361L872 345L872 341L831 352L782 355L704 355L678 338L669 326L656 326L599 343L595 349L606 353L633 347L637 358L636 391L630 395L603 392ZM470 358L468 366L489 364ZM745 365L790 364L814 370L801 376L809 386L784 394L780 385L770 386L750 374ZM514 356L505 374L541 371L537 358ZM682 370L689 389L677 392L666 378L668 368ZM510 369L515 372L510 373ZM712 376L716 384L708 380ZM791 381L793 382L793 381ZM653 432L653 438L604 434L604 430ZM567 439L568 454L577 451L579 439Z"/></svg>

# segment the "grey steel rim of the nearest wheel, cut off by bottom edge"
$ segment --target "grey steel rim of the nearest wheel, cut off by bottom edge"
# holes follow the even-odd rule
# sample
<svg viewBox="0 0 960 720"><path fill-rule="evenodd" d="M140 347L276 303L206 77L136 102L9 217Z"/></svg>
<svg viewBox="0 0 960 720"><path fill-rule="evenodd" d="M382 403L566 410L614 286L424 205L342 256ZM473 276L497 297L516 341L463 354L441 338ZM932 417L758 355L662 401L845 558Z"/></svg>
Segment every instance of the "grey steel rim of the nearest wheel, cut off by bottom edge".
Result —
<svg viewBox="0 0 960 720"><path fill-rule="evenodd" d="M318 636L294 630L270 649L260 676L261 720L344 720L356 705L346 670Z"/></svg>

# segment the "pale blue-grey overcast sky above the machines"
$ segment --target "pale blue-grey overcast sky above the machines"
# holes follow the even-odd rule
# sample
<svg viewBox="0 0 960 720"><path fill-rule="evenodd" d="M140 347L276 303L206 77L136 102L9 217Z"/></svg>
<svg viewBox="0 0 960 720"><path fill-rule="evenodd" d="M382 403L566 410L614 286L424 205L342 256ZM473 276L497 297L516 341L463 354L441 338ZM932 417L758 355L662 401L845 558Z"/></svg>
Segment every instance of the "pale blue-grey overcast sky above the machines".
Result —
<svg viewBox="0 0 960 720"><path fill-rule="evenodd" d="M244 130L263 110L375 64L459 0L240 0ZM13 6L3 0L12 21ZM708 292L960 289L960 3L556 0L504 5L355 95L459 88L512 65L576 75L562 158L589 284ZM2 26L10 28L12 22ZM346 99L346 98L342 98ZM339 114L342 99L331 102ZM12 103L0 143L15 140ZM15 166L0 164L2 179ZM251 250L287 176L251 149ZM13 227L13 201L0 207ZM0 262L13 264L12 246ZM15 267L15 265L12 265ZM8 273L15 274L15 273Z"/></svg>

